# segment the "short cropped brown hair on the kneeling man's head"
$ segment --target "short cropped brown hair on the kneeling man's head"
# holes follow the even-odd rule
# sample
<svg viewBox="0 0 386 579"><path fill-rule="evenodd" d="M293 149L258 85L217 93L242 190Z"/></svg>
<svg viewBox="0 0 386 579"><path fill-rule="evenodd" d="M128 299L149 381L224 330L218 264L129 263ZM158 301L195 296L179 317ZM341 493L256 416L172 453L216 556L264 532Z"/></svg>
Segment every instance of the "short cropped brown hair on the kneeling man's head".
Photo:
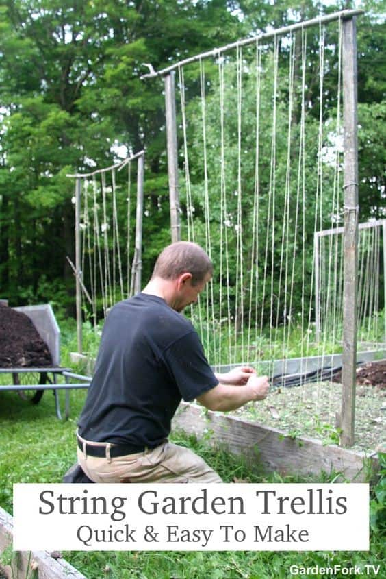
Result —
<svg viewBox="0 0 386 579"><path fill-rule="evenodd" d="M175 280L182 273L192 274L192 285L199 284L207 273L213 275L213 264L202 247L190 241L171 243L159 254L152 278Z"/></svg>

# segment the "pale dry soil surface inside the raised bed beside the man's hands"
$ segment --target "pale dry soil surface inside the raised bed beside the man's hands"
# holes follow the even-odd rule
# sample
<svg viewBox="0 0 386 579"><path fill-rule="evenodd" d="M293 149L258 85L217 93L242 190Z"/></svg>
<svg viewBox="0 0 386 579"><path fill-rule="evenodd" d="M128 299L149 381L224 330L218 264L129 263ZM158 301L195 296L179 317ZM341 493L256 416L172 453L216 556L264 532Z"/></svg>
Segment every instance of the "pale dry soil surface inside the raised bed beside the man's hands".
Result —
<svg viewBox="0 0 386 579"><path fill-rule="evenodd" d="M337 416L342 406L342 384L316 382L273 389L263 402L234 412L238 417L283 430L286 436L339 443ZM386 360L357 369L354 450L372 452L386 441Z"/></svg>

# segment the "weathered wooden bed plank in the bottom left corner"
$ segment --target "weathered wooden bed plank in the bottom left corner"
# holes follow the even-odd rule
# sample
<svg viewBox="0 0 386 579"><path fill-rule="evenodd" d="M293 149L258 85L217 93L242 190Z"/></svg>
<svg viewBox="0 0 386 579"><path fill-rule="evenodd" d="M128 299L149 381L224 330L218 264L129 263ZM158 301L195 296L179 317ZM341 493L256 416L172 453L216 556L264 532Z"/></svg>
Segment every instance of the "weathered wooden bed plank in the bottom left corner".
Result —
<svg viewBox="0 0 386 579"><path fill-rule="evenodd" d="M12 541L12 516L0 507L0 556L5 549L12 545ZM47 551L14 552L12 566L0 567L0 571L5 574L7 579L25 579L27 575L34 576L31 574L32 568L38 571L39 579L87 579L65 559L54 559Z"/></svg>

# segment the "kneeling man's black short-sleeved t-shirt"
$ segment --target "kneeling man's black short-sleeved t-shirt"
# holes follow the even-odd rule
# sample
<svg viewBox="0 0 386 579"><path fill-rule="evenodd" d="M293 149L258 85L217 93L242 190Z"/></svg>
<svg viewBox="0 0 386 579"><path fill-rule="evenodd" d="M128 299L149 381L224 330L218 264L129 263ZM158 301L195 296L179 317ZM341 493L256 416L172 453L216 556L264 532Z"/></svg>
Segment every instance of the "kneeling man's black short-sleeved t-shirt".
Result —
<svg viewBox="0 0 386 579"><path fill-rule="evenodd" d="M79 434L155 446L168 436L181 398L217 384L190 321L161 297L138 293L107 316Z"/></svg>

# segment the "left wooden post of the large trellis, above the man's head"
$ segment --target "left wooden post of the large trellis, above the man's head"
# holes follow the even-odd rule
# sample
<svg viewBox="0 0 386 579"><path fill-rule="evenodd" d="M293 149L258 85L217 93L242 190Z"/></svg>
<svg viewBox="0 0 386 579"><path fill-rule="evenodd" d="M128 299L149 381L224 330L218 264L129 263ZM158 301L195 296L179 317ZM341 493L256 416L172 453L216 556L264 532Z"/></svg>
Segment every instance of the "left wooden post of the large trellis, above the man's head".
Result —
<svg viewBox="0 0 386 579"><path fill-rule="evenodd" d="M174 242L181 239L181 225L179 219L178 149L174 71L166 75L164 81L166 104L166 140L168 149L170 227L172 230L172 241Z"/></svg>

